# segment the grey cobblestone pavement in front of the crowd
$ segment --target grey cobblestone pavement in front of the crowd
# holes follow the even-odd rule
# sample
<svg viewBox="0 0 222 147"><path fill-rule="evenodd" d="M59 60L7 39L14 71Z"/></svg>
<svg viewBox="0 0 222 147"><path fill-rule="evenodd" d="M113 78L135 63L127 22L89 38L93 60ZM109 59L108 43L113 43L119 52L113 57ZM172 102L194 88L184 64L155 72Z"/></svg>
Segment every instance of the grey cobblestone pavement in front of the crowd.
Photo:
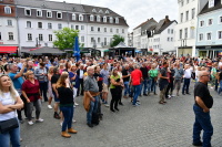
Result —
<svg viewBox="0 0 222 147"><path fill-rule="evenodd" d="M22 147L192 147L194 122L193 83L191 95L168 99L167 105L158 104L159 96L140 97L141 106L132 107L130 99L123 98L124 106L119 113L111 113L102 106L103 120L99 126L89 128L82 98L78 97L74 113L78 130L71 138L60 136L59 120L52 117L53 111L42 104L43 123L29 126L21 124ZM210 90L214 97L211 118L214 127L213 147L222 147L222 96ZM110 95L109 95L110 98ZM22 113L23 114L23 113ZM34 113L33 113L34 114Z"/></svg>

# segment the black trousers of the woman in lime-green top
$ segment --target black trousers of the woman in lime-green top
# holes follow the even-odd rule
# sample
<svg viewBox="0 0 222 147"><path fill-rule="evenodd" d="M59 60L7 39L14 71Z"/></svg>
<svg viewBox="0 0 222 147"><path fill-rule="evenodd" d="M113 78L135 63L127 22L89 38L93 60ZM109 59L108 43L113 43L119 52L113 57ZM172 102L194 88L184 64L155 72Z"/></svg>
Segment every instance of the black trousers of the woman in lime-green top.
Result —
<svg viewBox="0 0 222 147"><path fill-rule="evenodd" d="M112 99L110 102L110 109L113 111L113 105L114 108L118 108L118 102L120 101L121 97L121 93L117 91L117 88L110 88L111 95L112 95Z"/></svg>

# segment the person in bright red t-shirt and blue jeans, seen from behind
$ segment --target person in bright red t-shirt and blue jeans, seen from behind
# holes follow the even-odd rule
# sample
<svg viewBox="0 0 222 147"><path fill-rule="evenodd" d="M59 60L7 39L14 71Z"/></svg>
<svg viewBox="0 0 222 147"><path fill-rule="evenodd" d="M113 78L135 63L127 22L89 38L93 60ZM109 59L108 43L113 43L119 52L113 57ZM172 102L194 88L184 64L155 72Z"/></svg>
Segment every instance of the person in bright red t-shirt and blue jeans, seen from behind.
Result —
<svg viewBox="0 0 222 147"><path fill-rule="evenodd" d="M140 105L140 103L138 103L138 96L140 94L140 84L143 78L142 78L142 72L140 71L140 66L135 65L134 69L135 70L131 73L132 86L134 88L132 105L138 106Z"/></svg>

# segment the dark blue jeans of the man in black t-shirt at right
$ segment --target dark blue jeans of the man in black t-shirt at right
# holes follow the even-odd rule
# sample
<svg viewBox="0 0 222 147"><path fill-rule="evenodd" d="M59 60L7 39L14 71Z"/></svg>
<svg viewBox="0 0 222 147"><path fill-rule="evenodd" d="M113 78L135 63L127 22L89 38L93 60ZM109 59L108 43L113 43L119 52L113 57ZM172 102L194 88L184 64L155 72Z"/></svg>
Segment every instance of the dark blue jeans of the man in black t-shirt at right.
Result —
<svg viewBox="0 0 222 147"><path fill-rule="evenodd" d="M195 122L193 124L193 143L201 141L201 130L203 129L203 147L211 147L211 136L213 135L213 126L211 124L210 112L204 113L201 107L193 105L193 112L195 114Z"/></svg>

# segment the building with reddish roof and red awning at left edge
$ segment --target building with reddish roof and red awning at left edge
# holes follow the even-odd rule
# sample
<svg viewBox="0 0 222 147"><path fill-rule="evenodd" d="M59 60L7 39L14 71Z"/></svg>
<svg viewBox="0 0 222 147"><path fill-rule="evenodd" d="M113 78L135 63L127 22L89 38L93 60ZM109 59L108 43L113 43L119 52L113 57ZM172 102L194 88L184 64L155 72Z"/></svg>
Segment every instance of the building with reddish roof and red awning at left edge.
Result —
<svg viewBox="0 0 222 147"><path fill-rule="evenodd" d="M18 30L14 0L0 0L0 53L16 53Z"/></svg>

